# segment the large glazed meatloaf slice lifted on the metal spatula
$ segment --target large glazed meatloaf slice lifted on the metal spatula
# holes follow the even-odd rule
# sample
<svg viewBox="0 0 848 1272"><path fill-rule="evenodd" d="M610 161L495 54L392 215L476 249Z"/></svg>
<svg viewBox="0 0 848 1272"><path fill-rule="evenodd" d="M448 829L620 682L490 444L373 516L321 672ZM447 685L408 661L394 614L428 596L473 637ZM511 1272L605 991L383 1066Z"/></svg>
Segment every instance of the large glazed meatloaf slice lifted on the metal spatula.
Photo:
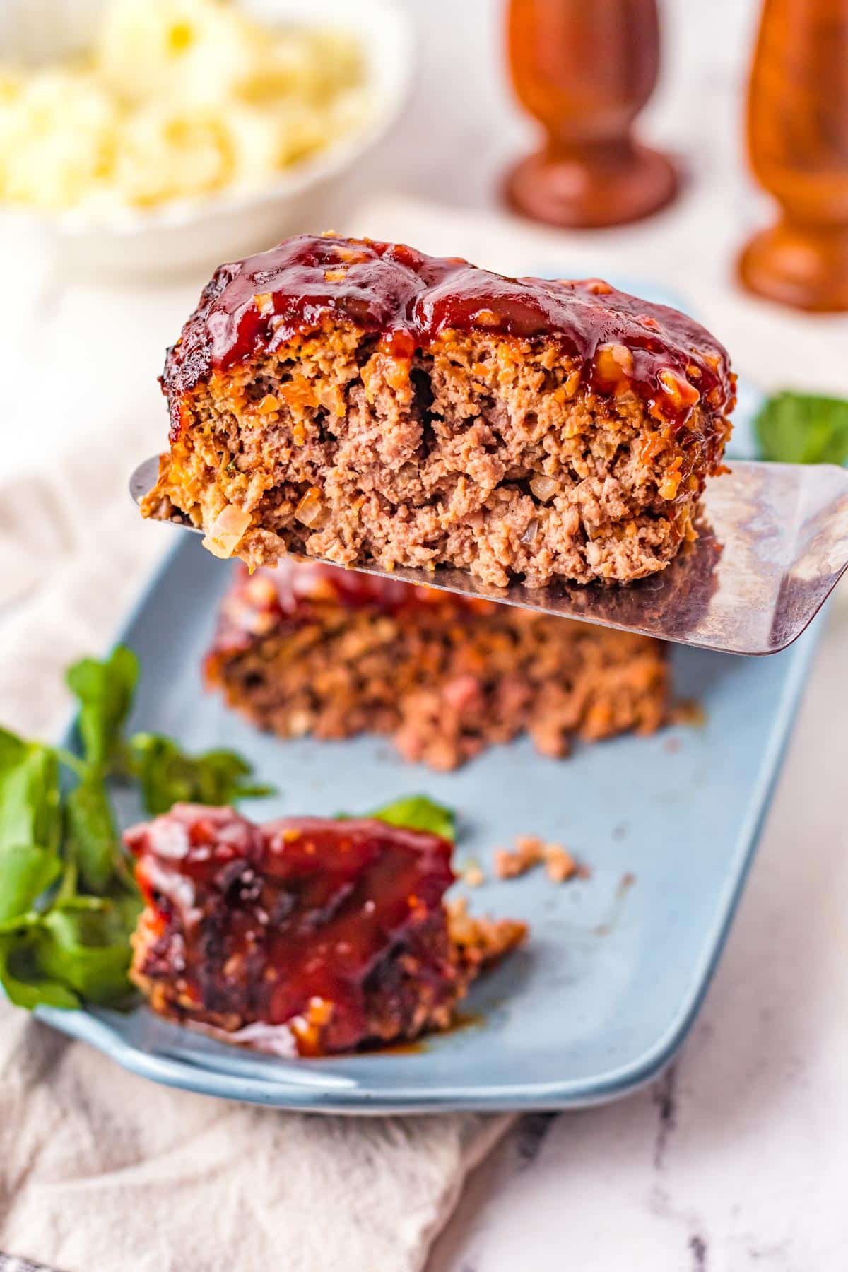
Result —
<svg viewBox="0 0 848 1272"><path fill-rule="evenodd" d="M252 567L295 552L498 586L661 570L735 399L722 346L674 309L333 235L221 266L161 383L144 515Z"/></svg>

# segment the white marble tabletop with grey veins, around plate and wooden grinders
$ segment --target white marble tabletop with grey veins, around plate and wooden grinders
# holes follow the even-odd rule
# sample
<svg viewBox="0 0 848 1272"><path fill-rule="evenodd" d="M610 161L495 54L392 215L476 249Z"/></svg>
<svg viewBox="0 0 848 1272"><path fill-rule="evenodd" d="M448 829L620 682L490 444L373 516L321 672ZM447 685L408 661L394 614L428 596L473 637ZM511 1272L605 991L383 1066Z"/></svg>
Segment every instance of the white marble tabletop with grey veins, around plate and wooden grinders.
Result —
<svg viewBox="0 0 848 1272"><path fill-rule="evenodd" d="M694 286L740 368L767 387L847 393L844 319L781 313L732 287L732 251L765 210L740 154L755 9L748 0L665 5L671 56L650 125L684 156L689 187L645 226L562 235L557 249ZM484 60L497 55L500 5L465 0L462 15L456 4L427 5L431 19L449 10L459 17L449 42L435 20L422 23L423 74L392 142L392 177L418 196L484 210L526 130ZM440 125L446 112L450 127ZM417 139L436 128L439 150L422 154ZM411 209L379 215L386 232L409 225L414 242ZM430 220L420 224L436 238ZM464 224L460 238L454 251L486 239L482 224ZM509 254L501 239L498 253ZM523 1119L472 1179L428 1272L847 1266L847 660L843 594L725 957L678 1062L619 1104Z"/></svg>

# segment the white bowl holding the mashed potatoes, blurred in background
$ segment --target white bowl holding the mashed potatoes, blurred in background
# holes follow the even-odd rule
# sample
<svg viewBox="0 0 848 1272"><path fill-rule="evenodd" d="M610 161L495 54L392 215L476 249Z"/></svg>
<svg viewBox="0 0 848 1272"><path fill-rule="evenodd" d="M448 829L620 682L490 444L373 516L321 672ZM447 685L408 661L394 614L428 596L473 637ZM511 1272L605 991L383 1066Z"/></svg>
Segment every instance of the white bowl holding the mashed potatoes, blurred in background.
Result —
<svg viewBox="0 0 848 1272"><path fill-rule="evenodd" d="M286 234L324 229L322 200L392 126L412 75L409 22L395 0L239 0L262 23L348 29L361 46L374 109L369 122L268 186L222 191L154 210L127 210L109 221L80 212L48 215L0 209L4 224L38 229L67 263L98 273L183 272L270 247ZM0 0L0 56L28 64L79 52L103 0ZM46 20L48 10L55 20Z"/></svg>

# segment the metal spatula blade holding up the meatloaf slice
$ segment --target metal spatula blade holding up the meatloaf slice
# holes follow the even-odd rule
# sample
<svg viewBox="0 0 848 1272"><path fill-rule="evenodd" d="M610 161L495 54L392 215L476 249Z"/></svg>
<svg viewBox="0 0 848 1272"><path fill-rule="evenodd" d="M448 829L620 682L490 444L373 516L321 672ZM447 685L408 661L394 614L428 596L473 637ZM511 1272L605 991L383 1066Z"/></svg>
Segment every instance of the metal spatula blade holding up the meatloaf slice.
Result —
<svg viewBox="0 0 848 1272"><path fill-rule="evenodd" d="M145 460L130 478L136 502L154 485L158 463ZM703 523L697 543L666 570L628 586L495 588L448 567L430 574L398 566L389 577L681 645L777 654L815 618L848 569L848 471L732 460L728 474L707 485Z"/></svg>

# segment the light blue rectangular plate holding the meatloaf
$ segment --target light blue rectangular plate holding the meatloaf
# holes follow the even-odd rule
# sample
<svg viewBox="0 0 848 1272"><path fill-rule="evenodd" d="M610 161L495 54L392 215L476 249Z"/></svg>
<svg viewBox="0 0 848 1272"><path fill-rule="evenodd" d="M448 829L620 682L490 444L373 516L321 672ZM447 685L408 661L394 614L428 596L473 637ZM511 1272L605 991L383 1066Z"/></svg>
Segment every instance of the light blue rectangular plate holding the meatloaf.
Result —
<svg viewBox="0 0 848 1272"><path fill-rule="evenodd" d="M189 749L242 750L281 792L245 805L249 815L360 812L423 791L459 810L460 862L474 857L491 875L498 845L538 833L568 845L591 878L556 887L534 871L475 888L474 911L528 920L530 941L473 988L472 1023L420 1049L286 1061L219 1043L144 1006L42 1009L42 1019L161 1082L323 1112L580 1107L653 1077L685 1037L716 967L815 631L768 659L673 649L675 693L703 705L701 726L577 747L566 761L538 756L524 738L459 772L432 773L379 738L280 742L205 693L201 658L230 567L195 536L175 533L120 637L141 658L136 728L173 734ZM141 817L126 792L117 804L122 826Z"/></svg>

